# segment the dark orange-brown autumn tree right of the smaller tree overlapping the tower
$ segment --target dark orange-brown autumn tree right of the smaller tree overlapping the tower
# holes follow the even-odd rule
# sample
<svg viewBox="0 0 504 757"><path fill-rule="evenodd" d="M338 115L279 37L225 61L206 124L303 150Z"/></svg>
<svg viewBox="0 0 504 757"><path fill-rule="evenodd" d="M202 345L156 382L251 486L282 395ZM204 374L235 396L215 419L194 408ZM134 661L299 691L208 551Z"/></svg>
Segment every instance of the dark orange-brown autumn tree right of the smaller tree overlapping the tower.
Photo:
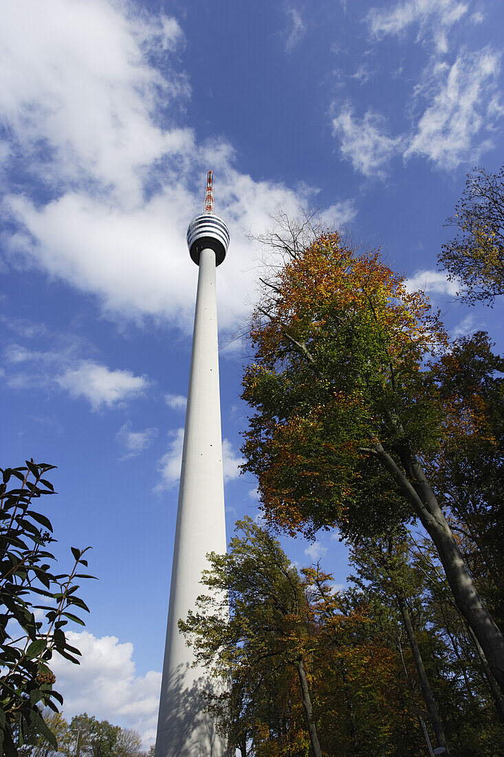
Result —
<svg viewBox="0 0 504 757"><path fill-rule="evenodd" d="M422 737L412 708L422 700L405 690L403 667L409 674L414 669L408 650L403 657L397 654L397 618L389 603L359 587L335 590L332 576L318 565L302 573L312 587L309 596L318 629L313 687L327 753L421 755Z"/></svg>

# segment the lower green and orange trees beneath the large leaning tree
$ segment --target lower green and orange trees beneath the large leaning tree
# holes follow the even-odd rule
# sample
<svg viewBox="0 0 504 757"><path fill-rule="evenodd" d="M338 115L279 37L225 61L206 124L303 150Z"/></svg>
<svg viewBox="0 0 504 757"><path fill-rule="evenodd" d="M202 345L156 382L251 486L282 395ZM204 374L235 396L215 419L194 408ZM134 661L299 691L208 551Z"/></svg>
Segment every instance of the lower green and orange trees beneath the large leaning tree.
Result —
<svg viewBox="0 0 504 757"><path fill-rule="evenodd" d="M422 754L410 709L421 700L404 692L403 662L388 643L390 610L359 590L334 591L318 568L297 572L250 519L238 528L229 553L211 556L198 612L180 623L198 662L229 681L209 700L229 745L242 755L310 754L296 674L302 658L323 755ZM403 656L411 674L411 656Z"/></svg>

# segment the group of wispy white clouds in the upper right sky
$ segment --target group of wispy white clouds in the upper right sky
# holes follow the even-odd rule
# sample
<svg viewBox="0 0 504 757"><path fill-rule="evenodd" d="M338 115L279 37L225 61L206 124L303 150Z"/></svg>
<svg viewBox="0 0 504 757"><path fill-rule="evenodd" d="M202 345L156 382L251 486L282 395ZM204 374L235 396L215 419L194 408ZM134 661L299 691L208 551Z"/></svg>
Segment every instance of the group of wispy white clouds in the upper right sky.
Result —
<svg viewBox="0 0 504 757"><path fill-rule="evenodd" d="M469 14L470 5L459 0L401 0L366 14L377 42L384 36L406 39L417 28L415 42L425 44L428 62L405 103L410 126L401 126L400 133L390 131L381 113L368 110L359 118L348 102L333 103L332 127L341 155L363 176L384 179L394 156L405 161L423 157L438 168L453 170L460 164L474 165L493 148L493 132L504 115L501 56L490 46L475 51L461 47L456 55L450 50L453 26L481 23L480 13ZM355 76L360 79L359 72Z"/></svg>

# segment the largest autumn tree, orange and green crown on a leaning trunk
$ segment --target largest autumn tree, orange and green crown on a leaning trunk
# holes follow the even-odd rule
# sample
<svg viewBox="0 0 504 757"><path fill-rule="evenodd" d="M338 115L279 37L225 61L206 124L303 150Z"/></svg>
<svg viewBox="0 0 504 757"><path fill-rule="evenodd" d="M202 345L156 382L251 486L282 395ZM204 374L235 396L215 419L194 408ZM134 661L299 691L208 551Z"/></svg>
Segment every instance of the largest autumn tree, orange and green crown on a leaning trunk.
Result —
<svg viewBox="0 0 504 757"><path fill-rule="evenodd" d="M448 351L440 322L378 253L354 254L338 234L285 255L254 314L244 373L254 410L244 468L266 518L350 536L418 519L504 689L504 639L425 473L457 413L471 422L443 402L429 365Z"/></svg>

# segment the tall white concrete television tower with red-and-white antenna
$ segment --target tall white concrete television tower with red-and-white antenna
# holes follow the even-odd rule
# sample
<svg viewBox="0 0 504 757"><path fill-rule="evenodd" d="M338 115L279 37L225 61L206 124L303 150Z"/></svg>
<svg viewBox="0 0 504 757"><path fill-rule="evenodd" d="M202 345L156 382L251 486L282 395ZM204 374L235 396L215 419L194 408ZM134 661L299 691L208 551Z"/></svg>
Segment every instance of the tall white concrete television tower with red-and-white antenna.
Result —
<svg viewBox="0 0 504 757"><path fill-rule="evenodd" d="M170 607L156 757L222 757L226 743L204 712L201 691L221 686L201 667L192 668L194 653L185 645L179 618L194 610L204 592L201 573L209 567L208 552L226 552L222 435L220 428L219 357L217 345L216 266L226 257L229 230L213 213L212 172L208 172L204 213L187 232L189 254L199 266L194 313L191 370L179 507L173 550Z"/></svg>

